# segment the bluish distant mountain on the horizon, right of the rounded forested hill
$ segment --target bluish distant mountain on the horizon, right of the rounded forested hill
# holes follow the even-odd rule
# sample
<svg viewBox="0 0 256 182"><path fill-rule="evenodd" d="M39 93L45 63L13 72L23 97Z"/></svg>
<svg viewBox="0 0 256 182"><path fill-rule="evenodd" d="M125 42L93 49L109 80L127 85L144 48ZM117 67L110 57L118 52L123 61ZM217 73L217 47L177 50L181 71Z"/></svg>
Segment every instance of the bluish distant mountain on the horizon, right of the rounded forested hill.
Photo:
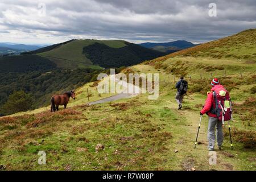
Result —
<svg viewBox="0 0 256 182"><path fill-rule="evenodd" d="M196 44L187 42L185 40L177 40L174 42L167 42L167 43L147 42L147 43L141 43L138 45L146 48L154 49L156 51L167 52L167 53L172 53L172 52L180 51L185 48L196 46Z"/></svg>

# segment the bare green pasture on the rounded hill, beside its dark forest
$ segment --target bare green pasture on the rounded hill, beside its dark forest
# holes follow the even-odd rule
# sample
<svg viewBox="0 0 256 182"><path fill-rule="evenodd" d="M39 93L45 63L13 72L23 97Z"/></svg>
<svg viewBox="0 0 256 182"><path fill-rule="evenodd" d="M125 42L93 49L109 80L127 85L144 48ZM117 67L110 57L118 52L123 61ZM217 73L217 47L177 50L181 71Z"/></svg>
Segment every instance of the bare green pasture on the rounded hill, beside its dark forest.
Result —
<svg viewBox="0 0 256 182"><path fill-rule="evenodd" d="M52 49L51 51L39 53L38 55L51 58L57 65L59 65L59 67L63 67L63 61L68 64L70 60L72 60L72 64L77 64L77 67L88 68L92 67L92 62L82 54L82 48L96 42L106 44L106 46L113 48L126 46L122 40L74 40L68 44ZM61 64L58 64L60 61Z"/></svg>

